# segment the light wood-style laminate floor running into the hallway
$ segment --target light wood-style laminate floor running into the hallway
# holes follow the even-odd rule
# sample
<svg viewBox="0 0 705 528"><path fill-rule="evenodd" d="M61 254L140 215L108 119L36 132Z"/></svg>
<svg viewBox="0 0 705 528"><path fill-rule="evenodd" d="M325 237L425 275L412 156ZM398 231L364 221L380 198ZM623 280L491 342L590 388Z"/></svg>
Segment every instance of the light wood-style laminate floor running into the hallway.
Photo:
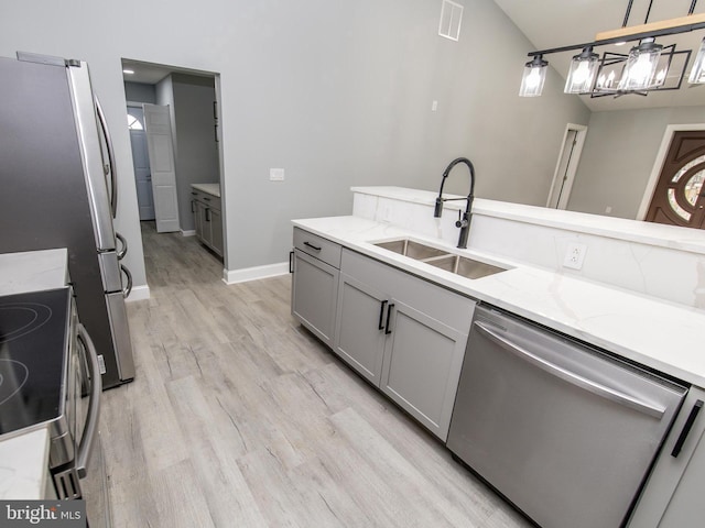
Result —
<svg viewBox="0 0 705 528"><path fill-rule="evenodd" d="M137 377L104 393L117 527L524 527L290 315L291 277L227 286L143 224Z"/></svg>

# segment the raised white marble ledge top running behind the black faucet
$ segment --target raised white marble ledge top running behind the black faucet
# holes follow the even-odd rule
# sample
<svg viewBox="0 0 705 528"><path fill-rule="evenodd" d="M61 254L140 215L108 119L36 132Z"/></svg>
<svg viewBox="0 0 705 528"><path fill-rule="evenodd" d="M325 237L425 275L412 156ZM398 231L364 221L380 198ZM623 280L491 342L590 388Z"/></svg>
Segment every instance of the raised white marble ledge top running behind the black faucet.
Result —
<svg viewBox="0 0 705 528"><path fill-rule="evenodd" d="M364 195L369 194L423 205L433 205L436 196L438 196L438 193L403 187L352 187L350 190ZM457 197L457 195L446 194L444 196ZM448 201L444 207L465 210L465 202ZM551 228L577 230L600 237L705 254L705 230L677 228L653 222L634 222L623 218L603 217L586 212L564 211L482 198L474 200L473 213Z"/></svg>

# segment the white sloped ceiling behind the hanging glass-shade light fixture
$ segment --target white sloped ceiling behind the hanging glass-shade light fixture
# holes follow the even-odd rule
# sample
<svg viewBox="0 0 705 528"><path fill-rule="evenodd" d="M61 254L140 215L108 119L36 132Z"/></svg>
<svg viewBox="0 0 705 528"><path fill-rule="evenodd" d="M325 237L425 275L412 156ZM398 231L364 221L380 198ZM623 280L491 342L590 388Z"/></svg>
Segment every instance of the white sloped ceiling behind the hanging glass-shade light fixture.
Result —
<svg viewBox="0 0 705 528"><path fill-rule="evenodd" d="M495 2L535 46L533 50L527 50L527 53L593 42L596 33L621 28L629 3L628 0L495 0ZM653 0L649 22L685 16L690 7L691 0ZM627 25L643 24L648 9L649 0L633 0ZM705 13L705 0L696 4L695 13ZM705 30L671 37L664 36L657 42L664 45L677 43L676 50L693 50L692 63L703 36L705 36ZM600 47L596 48L596 52L626 53L628 48L629 44L621 48ZM565 78L571 57L577 53L579 50L551 54L544 58ZM525 59L528 61L529 57ZM686 76L688 72L690 65ZM647 97L637 95L595 99L586 96L573 97L581 97L593 111L702 106L705 105L705 85L693 87L687 84L686 78L680 90L650 92Z"/></svg>

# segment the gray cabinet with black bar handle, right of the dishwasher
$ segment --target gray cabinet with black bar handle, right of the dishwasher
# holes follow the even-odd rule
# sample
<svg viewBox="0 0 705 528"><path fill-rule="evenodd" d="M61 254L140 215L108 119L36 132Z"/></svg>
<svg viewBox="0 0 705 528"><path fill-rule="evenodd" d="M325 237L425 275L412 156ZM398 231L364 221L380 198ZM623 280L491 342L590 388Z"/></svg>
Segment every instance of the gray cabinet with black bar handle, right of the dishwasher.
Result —
<svg viewBox="0 0 705 528"><path fill-rule="evenodd" d="M628 525L630 528L682 528L702 525L705 518L705 409L701 407L703 402L705 391L691 387L637 503ZM682 440L680 452L674 451L679 440Z"/></svg>

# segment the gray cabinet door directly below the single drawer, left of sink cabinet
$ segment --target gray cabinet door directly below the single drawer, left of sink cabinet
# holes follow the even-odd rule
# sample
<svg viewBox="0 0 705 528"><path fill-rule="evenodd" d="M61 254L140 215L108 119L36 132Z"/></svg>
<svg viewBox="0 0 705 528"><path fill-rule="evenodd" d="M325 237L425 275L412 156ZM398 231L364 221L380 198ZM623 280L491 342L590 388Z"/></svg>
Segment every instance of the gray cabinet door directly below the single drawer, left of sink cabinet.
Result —
<svg viewBox="0 0 705 528"><path fill-rule="evenodd" d="M294 250L292 314L330 348L335 336L339 274L325 262Z"/></svg>

